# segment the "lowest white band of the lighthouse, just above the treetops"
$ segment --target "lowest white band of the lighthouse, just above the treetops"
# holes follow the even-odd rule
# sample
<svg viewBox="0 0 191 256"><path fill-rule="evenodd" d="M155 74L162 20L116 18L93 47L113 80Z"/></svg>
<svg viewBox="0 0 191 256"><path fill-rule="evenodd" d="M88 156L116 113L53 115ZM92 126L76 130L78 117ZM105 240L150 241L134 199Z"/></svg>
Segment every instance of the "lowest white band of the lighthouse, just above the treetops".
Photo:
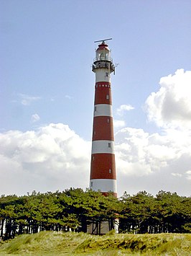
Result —
<svg viewBox="0 0 191 256"><path fill-rule="evenodd" d="M117 182L116 180L109 179L96 179L90 180L90 189L94 191L100 190L101 192L109 192L117 193Z"/></svg>

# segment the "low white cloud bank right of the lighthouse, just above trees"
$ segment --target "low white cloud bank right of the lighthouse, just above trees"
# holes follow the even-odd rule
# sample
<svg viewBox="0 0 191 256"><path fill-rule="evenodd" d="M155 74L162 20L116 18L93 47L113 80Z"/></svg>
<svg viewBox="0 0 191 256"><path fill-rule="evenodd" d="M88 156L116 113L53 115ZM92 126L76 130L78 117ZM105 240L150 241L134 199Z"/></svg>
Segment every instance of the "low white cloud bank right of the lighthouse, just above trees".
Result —
<svg viewBox="0 0 191 256"><path fill-rule="evenodd" d="M190 133L145 133L124 128L116 133L118 190L177 191L189 195L191 172ZM180 138L180 139L177 139ZM181 180L180 180L181 177ZM122 191L121 191L122 192Z"/></svg>

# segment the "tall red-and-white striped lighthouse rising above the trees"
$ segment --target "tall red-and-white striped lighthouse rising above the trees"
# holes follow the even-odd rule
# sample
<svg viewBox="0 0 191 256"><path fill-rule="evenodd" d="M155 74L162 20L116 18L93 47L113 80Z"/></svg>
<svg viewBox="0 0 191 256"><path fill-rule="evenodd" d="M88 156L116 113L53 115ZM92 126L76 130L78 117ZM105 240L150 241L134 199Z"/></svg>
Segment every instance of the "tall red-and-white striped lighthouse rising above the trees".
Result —
<svg viewBox="0 0 191 256"><path fill-rule="evenodd" d="M90 189L117 196L114 154L111 73L115 71L106 40L95 50L92 71L95 73L95 100L90 167ZM95 42L95 43L96 43Z"/></svg>

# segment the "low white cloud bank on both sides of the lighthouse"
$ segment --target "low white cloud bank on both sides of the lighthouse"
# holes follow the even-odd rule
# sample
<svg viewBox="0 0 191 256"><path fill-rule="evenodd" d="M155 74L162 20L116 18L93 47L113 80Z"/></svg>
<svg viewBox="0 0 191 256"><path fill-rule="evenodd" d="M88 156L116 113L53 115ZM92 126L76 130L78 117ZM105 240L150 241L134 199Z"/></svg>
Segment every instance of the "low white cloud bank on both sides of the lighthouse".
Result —
<svg viewBox="0 0 191 256"><path fill-rule="evenodd" d="M177 140L179 135L181 139ZM115 137L118 195L125 190L131 194L139 190L190 193L188 133L167 131L159 135L123 128ZM89 184L90 148L90 141L62 123L37 131L0 133L0 175L4 180L0 194L85 189Z"/></svg>

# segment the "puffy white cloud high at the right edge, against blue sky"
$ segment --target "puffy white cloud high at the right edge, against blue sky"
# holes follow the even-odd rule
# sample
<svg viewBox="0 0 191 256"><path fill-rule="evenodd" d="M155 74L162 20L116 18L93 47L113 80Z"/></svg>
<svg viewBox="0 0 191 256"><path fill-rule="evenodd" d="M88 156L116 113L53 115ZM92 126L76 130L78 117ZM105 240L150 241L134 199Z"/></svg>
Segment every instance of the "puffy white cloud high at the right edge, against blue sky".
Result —
<svg viewBox="0 0 191 256"><path fill-rule="evenodd" d="M146 100L149 120L164 128L191 128L191 71L178 69L159 84Z"/></svg>

